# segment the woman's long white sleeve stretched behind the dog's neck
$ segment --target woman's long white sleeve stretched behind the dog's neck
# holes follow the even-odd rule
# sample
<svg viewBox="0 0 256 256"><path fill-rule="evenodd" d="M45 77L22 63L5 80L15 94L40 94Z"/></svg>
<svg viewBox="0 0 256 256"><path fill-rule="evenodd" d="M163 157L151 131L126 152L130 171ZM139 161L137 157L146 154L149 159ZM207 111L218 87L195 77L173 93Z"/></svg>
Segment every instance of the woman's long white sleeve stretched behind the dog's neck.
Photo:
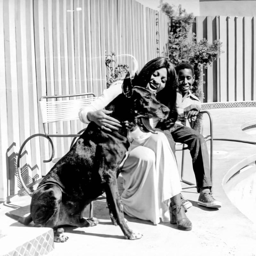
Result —
<svg viewBox="0 0 256 256"><path fill-rule="evenodd" d="M87 118L88 112L97 111L105 108L112 100L114 100L119 94L122 93L123 81L117 81L110 85L108 89L105 89L100 97L92 101L86 107L79 110L79 119L84 124L89 124L90 121Z"/></svg>

